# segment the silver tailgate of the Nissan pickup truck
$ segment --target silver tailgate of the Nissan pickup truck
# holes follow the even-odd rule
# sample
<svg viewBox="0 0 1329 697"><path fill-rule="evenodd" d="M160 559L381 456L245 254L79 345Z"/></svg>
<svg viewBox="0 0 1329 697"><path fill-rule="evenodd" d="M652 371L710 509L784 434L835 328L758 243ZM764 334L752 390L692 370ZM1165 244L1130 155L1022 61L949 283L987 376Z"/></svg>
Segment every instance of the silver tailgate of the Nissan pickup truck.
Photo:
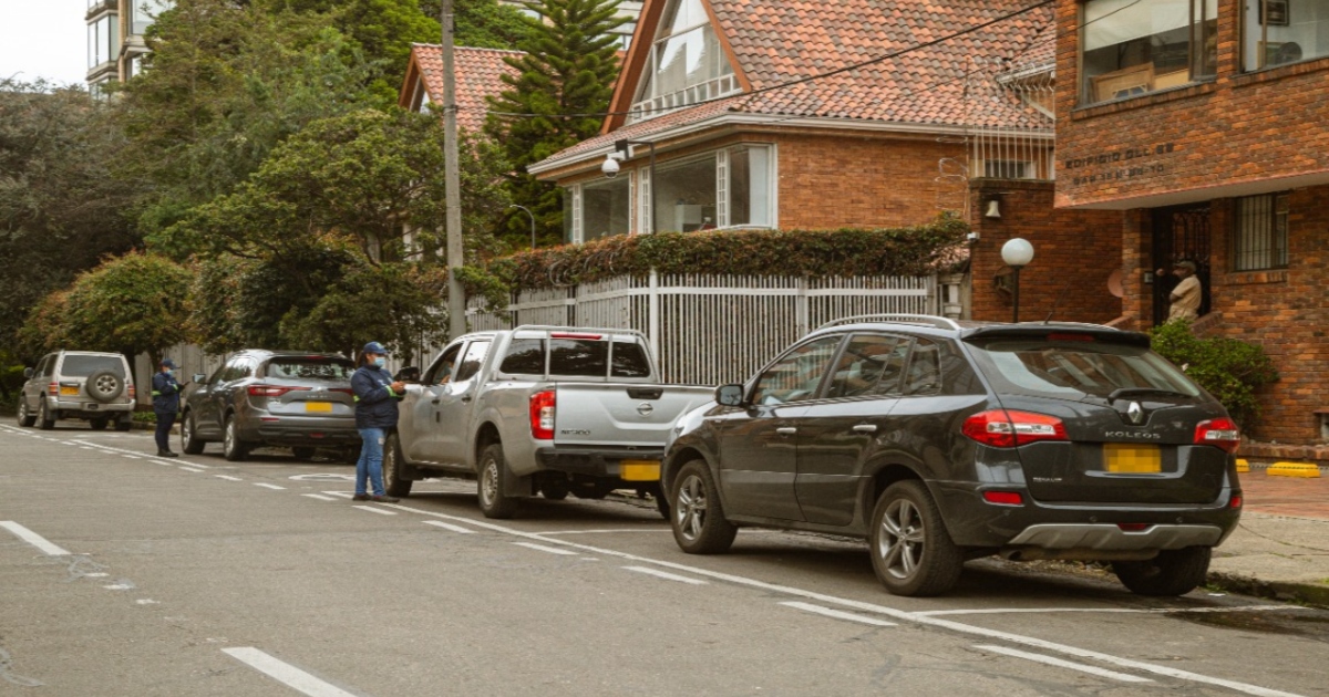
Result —
<svg viewBox="0 0 1329 697"><path fill-rule="evenodd" d="M711 388L562 382L557 389L554 445L664 447L674 422L710 401Z"/></svg>

